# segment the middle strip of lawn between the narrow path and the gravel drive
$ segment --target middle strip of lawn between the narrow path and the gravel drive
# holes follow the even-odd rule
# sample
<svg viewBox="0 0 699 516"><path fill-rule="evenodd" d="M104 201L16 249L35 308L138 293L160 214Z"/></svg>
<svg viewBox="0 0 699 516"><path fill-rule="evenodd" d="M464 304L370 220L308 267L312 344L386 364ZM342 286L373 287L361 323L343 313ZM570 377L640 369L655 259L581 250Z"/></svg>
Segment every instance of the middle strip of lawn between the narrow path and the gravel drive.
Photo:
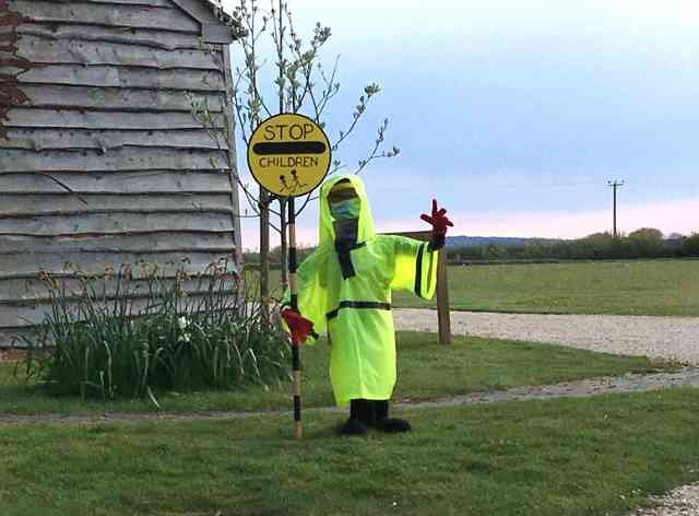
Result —
<svg viewBox="0 0 699 516"><path fill-rule="evenodd" d="M433 399L476 390L552 384L594 376L647 372L673 364L640 356L617 356L560 345L454 337L450 347L434 333L399 333L399 383L395 400ZM329 349L324 341L301 351L304 403L332 406L328 378ZM45 395L35 385L13 376L14 367L0 364L0 413L153 412L146 401L82 402L76 398ZM289 385L253 386L238 391L162 392L158 401L168 412L269 410L291 406Z"/></svg>

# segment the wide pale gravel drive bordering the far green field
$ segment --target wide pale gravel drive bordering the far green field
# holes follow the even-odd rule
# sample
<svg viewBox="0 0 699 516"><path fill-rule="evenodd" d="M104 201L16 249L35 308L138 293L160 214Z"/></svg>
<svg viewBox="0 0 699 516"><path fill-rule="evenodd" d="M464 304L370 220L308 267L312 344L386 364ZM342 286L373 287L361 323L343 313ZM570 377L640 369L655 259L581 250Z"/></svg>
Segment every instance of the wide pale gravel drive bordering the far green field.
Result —
<svg viewBox="0 0 699 516"><path fill-rule="evenodd" d="M435 310L400 308L393 315L399 330L437 331ZM451 331L699 364L699 317L452 312Z"/></svg>

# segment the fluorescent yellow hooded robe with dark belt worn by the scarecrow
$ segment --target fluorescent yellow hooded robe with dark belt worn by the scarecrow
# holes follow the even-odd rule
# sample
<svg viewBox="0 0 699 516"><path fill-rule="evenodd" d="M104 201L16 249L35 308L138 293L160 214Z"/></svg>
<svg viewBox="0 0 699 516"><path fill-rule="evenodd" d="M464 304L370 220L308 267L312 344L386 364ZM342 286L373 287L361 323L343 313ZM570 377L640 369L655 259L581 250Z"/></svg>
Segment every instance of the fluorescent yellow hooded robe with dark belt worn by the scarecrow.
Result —
<svg viewBox="0 0 699 516"><path fill-rule="evenodd" d="M350 251L354 275L344 279L335 251L328 195L348 179L362 209L357 245ZM298 268L298 309L315 331L332 338L330 380L337 406L350 400L389 399L395 385L395 332L391 291L431 298L437 255L425 242L376 235L364 184L356 175L333 175L320 188L319 246ZM346 263L345 263L346 268ZM346 275L346 274L345 274ZM286 292L283 305L288 305Z"/></svg>

